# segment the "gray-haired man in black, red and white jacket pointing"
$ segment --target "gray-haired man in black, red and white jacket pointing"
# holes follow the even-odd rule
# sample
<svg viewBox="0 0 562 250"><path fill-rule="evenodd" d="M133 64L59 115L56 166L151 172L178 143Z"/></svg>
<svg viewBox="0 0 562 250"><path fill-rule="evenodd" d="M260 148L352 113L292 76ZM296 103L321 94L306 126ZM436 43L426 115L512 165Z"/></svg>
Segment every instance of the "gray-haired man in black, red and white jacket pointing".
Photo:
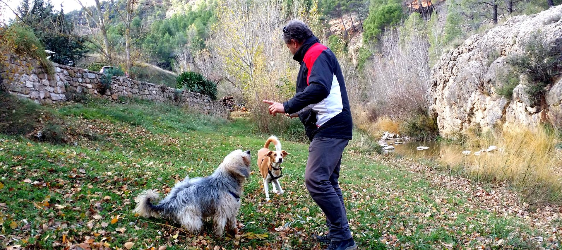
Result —
<svg viewBox="0 0 562 250"><path fill-rule="evenodd" d="M283 28L283 39L301 64L297 76L297 94L287 102L271 104L269 113L299 117L311 140L305 181L310 196L326 215L330 233L316 236L328 243L326 249L357 249L347 222L339 167L343 149L352 135L352 120L341 68L334 53L319 43L309 26L291 20Z"/></svg>

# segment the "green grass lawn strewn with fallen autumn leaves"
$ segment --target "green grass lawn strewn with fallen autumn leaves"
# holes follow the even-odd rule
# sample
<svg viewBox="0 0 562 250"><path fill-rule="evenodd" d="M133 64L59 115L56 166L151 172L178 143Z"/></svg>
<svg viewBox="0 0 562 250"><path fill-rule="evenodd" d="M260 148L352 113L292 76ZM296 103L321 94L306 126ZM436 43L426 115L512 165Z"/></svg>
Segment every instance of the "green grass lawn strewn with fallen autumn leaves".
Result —
<svg viewBox="0 0 562 250"><path fill-rule="evenodd" d="M213 119L169 104L70 103L53 111L95 137L69 144L0 135L0 248L321 249L327 231L304 185L307 144L289 142L283 196L266 203L255 153L269 135L251 121ZM68 128L72 130L73 128ZM93 138L93 139L92 139ZM143 189L162 196L186 175L210 175L234 149L250 149L238 235L211 222L190 235L166 219L132 214ZM405 159L346 149L340 177L360 249L555 249L558 208L530 208L509 189L473 183ZM68 248L67 248L68 247Z"/></svg>

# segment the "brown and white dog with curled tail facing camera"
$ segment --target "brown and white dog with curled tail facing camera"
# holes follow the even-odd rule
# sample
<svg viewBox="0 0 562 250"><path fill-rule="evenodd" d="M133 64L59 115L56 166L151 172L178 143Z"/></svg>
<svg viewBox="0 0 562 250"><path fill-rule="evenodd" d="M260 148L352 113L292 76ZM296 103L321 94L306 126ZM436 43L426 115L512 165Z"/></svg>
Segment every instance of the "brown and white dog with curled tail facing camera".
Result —
<svg viewBox="0 0 562 250"><path fill-rule="evenodd" d="M269 150L269 144L272 142L275 151ZM273 135L266 140L264 148L257 151L257 167L260 169L261 177L264 178L266 201L269 201L269 183L273 183L271 185L275 194L284 193L278 179L282 176L281 163L287 154L289 154L287 151L281 150L279 139Z"/></svg>

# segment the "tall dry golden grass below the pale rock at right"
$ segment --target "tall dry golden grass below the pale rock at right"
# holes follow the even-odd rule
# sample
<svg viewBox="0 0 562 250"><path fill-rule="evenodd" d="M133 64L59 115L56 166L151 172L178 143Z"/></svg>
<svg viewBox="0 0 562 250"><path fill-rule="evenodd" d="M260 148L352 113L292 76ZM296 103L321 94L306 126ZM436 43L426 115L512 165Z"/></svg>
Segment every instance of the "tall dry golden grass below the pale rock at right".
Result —
<svg viewBox="0 0 562 250"><path fill-rule="evenodd" d="M469 139L482 148L496 146L493 152L459 157L445 153L441 161L462 167L462 171L482 181L509 181L534 203L562 202L561 154L556 149L559 133L551 128L505 128L496 135ZM474 149L478 151L480 148Z"/></svg>

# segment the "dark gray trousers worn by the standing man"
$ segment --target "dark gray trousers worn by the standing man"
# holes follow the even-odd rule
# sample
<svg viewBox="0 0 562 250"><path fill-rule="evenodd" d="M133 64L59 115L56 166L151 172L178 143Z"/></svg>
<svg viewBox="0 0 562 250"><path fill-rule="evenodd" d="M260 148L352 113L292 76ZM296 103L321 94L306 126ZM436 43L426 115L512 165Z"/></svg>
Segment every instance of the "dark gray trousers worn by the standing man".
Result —
<svg viewBox="0 0 562 250"><path fill-rule="evenodd" d="M346 139L314 138L310 143L309 160L306 163L306 189L326 215L332 240L351 238L342 190L338 184L342 153L347 143Z"/></svg>

